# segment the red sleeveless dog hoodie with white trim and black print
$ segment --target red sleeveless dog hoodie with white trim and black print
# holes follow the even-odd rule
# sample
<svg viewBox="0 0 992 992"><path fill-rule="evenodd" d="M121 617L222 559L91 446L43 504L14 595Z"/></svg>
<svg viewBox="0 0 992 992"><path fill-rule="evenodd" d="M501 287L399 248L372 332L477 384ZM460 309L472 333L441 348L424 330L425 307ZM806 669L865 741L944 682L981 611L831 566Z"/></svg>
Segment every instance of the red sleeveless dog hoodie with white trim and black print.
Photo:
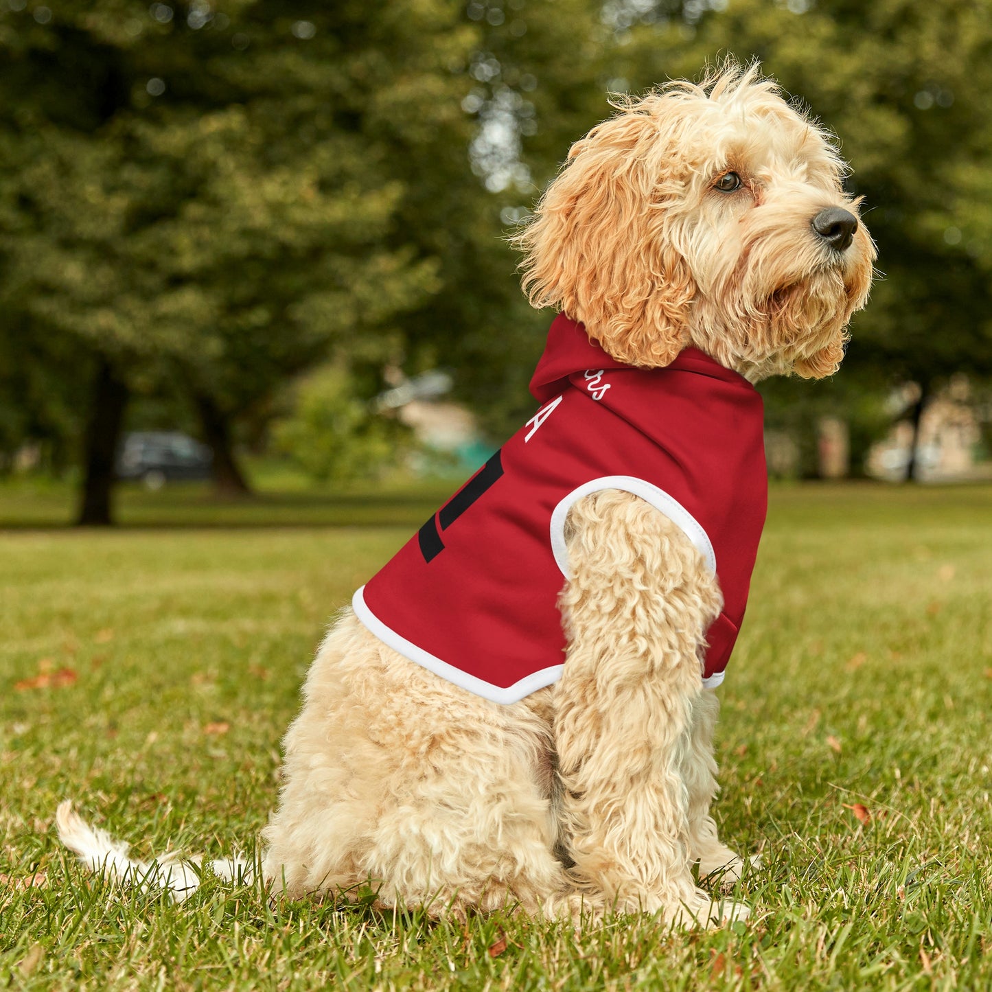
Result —
<svg viewBox="0 0 992 992"><path fill-rule="evenodd" d="M556 681L564 578L552 551L553 511L590 480L633 476L677 500L712 544L724 609L707 633L703 676L722 673L765 521L759 394L694 348L662 369L623 365L563 315L531 392L543 404L540 423L514 434L359 590L359 616L420 649L400 649L414 661L465 684L444 668L451 666L490 698L513 701Z"/></svg>

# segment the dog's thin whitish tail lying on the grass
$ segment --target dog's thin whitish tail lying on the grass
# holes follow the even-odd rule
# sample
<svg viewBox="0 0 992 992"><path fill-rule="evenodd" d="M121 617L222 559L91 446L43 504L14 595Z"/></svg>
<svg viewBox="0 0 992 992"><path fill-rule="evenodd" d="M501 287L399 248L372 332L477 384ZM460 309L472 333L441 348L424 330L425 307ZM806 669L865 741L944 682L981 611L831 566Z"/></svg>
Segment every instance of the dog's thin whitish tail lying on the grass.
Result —
<svg viewBox="0 0 992 992"><path fill-rule="evenodd" d="M142 892L166 891L177 903L191 896L199 886L202 858L182 858L166 854L152 861L128 857L129 845L114 840L106 830L90 826L65 800L56 810L59 839L90 871L125 885L136 885ZM213 873L228 882L251 882L254 866L242 857L209 862Z"/></svg>

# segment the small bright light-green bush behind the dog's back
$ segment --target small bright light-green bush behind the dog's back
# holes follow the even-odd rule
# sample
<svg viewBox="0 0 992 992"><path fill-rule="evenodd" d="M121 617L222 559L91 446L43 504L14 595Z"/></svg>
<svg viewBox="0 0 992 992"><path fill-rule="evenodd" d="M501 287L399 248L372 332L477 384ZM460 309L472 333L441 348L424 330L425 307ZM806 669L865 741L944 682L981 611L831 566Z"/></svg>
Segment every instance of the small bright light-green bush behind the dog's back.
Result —
<svg viewBox="0 0 992 992"><path fill-rule="evenodd" d="M403 425L374 413L341 365L310 373L295 394L293 412L276 421L273 438L316 482L375 478L409 446Z"/></svg>

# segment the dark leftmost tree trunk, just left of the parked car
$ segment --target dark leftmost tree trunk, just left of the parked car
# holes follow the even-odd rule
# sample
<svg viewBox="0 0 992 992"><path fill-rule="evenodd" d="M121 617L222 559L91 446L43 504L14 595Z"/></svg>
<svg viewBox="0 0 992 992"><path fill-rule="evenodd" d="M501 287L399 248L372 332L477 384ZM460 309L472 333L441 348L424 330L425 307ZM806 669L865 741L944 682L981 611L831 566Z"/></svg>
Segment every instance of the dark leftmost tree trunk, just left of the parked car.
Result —
<svg viewBox="0 0 992 992"><path fill-rule="evenodd" d="M100 359L93 383L92 405L84 438L84 477L82 500L76 524L80 527L108 527L113 523L111 495L114 485L114 458L124 424L128 389L110 363Z"/></svg>

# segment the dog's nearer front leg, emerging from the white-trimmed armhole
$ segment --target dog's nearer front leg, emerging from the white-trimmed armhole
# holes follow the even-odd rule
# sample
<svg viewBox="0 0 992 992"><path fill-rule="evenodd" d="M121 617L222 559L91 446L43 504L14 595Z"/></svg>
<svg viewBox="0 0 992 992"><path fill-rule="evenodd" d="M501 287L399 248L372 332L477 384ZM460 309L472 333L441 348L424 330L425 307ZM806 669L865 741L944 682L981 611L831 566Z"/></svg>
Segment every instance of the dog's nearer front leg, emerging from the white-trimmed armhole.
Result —
<svg viewBox="0 0 992 992"><path fill-rule="evenodd" d="M692 880L683 777L715 579L667 517L606 490L572 508L556 686L561 833L580 885L674 923L739 919Z"/></svg>

